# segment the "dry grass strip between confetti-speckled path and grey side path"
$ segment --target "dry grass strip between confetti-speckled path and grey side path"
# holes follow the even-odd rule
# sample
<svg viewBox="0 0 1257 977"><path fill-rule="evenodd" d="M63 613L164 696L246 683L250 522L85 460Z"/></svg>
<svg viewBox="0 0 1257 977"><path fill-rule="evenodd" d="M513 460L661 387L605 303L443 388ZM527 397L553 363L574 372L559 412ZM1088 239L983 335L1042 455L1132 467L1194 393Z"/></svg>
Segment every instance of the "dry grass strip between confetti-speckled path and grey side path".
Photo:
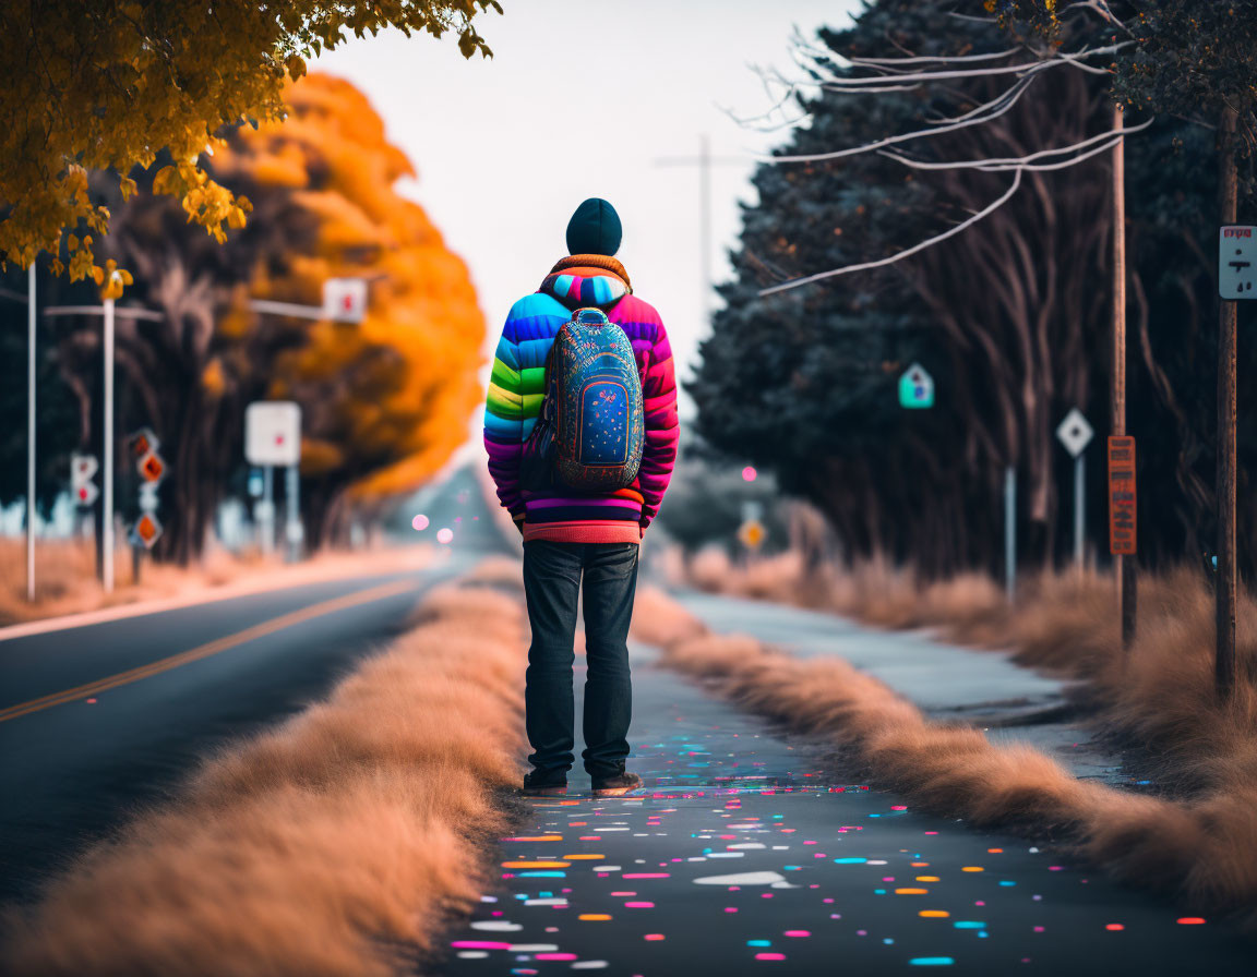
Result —
<svg viewBox="0 0 1257 977"><path fill-rule="evenodd" d="M754 638L711 634L666 595L649 600L654 620L666 625L644 627L639 637L662 645L665 664L787 726L823 735L874 782L979 826L1072 840L1126 882L1169 888L1202 910L1236 913L1257 927L1257 764L1190 802L1080 781L1029 746L997 746L975 728L926 720L841 659L799 659ZM1257 747L1249 745L1246 758L1257 758Z"/></svg>

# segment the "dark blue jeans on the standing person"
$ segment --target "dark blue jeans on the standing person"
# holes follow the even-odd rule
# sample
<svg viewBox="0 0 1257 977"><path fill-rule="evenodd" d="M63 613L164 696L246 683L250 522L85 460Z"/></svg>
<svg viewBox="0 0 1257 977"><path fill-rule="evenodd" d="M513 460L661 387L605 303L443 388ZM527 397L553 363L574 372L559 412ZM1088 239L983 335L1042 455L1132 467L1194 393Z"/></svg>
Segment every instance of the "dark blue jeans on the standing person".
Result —
<svg viewBox="0 0 1257 977"><path fill-rule="evenodd" d="M528 761L546 780L564 781L572 766L572 644L577 598L585 576L585 770L612 777L628 756L632 683L628 622L637 589L632 542L524 544L524 591L533 643L528 649Z"/></svg>

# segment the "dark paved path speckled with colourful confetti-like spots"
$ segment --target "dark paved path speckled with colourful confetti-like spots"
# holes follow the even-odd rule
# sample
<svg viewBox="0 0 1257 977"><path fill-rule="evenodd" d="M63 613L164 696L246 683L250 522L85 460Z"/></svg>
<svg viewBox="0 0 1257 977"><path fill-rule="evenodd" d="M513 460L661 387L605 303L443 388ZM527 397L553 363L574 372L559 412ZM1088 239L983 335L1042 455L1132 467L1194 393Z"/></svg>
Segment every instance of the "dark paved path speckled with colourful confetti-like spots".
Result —
<svg viewBox="0 0 1257 977"><path fill-rule="evenodd" d="M646 791L593 800L582 777L532 801L444 973L1253 972L1253 946L1221 927L845 782L647 649L634 679Z"/></svg>

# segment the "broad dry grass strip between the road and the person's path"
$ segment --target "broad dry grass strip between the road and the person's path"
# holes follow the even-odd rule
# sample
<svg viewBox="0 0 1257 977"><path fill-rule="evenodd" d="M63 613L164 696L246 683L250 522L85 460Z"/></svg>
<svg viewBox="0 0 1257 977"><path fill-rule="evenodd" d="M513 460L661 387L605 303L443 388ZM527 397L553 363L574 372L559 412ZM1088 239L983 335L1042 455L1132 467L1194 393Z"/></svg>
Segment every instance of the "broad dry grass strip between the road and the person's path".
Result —
<svg viewBox="0 0 1257 977"><path fill-rule="evenodd" d="M13 974L391 974L483 890L523 618L444 588L331 696L204 762L6 920Z"/></svg>

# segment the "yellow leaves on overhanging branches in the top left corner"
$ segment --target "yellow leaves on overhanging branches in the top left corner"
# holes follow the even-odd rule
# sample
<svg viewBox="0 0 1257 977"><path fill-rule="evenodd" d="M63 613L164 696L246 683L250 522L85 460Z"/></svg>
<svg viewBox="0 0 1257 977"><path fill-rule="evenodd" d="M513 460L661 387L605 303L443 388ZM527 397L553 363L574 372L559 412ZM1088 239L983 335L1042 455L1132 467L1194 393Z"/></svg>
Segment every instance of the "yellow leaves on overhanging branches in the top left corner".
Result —
<svg viewBox="0 0 1257 977"><path fill-rule="evenodd" d="M9 113L0 128L0 201L10 205L0 219L0 255L21 266L40 251L55 256L65 230L80 224L108 232L109 213L91 200L88 171L112 175L126 201L138 190L126 175L163 149L178 162L163 167L157 192L180 196L191 222L225 240L249 208L197 165L214 152L224 123L279 121L285 82L305 75L305 59L347 33L454 30L464 54L486 54L471 21L498 9L493 0L97 6L91 18L74 4L30 18L26 5L0 4L0 36L18 39L0 45L5 100L26 109ZM39 51L39 70L31 70L31 51ZM72 262L70 274L89 271L91 260ZM55 257L53 267L62 270Z"/></svg>

